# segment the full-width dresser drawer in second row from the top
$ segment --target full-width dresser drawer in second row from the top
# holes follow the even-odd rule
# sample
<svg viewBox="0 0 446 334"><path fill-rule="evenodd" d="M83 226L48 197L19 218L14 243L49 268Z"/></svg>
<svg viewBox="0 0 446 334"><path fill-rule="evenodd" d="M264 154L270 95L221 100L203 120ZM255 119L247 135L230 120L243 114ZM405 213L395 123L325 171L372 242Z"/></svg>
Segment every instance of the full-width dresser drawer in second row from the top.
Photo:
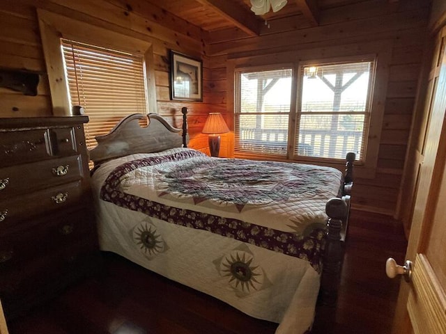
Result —
<svg viewBox="0 0 446 334"><path fill-rule="evenodd" d="M82 178L79 155L0 168L0 200ZM1 205L0 205L1 206Z"/></svg>

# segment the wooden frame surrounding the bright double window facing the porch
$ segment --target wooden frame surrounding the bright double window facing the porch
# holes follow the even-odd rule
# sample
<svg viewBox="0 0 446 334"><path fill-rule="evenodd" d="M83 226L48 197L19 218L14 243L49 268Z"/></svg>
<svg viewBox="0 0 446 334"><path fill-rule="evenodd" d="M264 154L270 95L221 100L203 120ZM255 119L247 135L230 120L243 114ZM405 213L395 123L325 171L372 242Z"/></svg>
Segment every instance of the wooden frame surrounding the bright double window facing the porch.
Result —
<svg viewBox="0 0 446 334"><path fill-rule="evenodd" d="M330 54L332 56L326 57ZM362 177L366 179L373 179L376 173L387 173L386 168L378 167L378 154L381 143L385 143L385 139L381 141L381 133L383 131L383 117L387 98L387 86L389 85L390 77L390 64L392 63L392 41L378 41L378 42L364 42L358 45L357 43L350 45L330 45L316 49L294 49L289 51L282 51L275 57L265 57L261 55L244 56L240 58L233 57L227 62L226 74L229 80L229 89L227 91L227 104L226 111L228 115L234 115L235 103L237 99L237 86L236 76L237 70L249 69L249 68L268 68L271 66L271 62L275 61L277 64L289 64L290 60L298 59L293 62L295 65L295 71L299 70L299 63L309 62L321 62L327 63L329 61L350 61L360 58L375 58L375 76L372 83L372 97L371 97L371 116L369 120L369 129L367 136L367 148L364 150L364 161L362 163L355 163L357 168L355 169L356 177ZM297 93L298 82L295 80L295 89L293 92ZM294 99L297 102L297 98ZM297 107L297 106L296 106ZM291 117L295 116L295 113L291 113ZM230 118L229 118L230 119ZM295 119L291 119L295 122ZM234 118L232 116L232 121ZM295 135L295 132L292 134ZM290 135L291 136L291 135ZM292 152L292 151L290 151ZM270 157L259 154L238 154L234 152L233 157L247 158L247 159L262 159L271 161L294 161L305 164L317 164L320 166L332 166L343 170L345 161L340 159L337 161L330 161L320 158L312 157L293 157L289 156L286 159L280 157ZM392 170L388 170L392 173Z"/></svg>

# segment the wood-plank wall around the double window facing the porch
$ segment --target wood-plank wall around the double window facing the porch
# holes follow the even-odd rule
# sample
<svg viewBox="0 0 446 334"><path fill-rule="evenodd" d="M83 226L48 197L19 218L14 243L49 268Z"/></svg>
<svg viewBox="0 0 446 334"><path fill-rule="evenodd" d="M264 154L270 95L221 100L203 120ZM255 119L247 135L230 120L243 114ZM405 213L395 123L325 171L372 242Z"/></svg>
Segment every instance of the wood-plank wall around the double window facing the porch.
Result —
<svg viewBox="0 0 446 334"><path fill-rule="evenodd" d="M381 102L385 109L376 174L363 177L357 173L353 205L397 216L400 202L404 205L406 197L410 198L410 194L403 194L400 200L399 190L426 40L429 1L391 2L368 0L332 9L327 5L321 11L319 26L300 31L276 28L271 22L271 33L260 37L235 38L241 36L236 30L211 35L205 53L210 58L213 79L209 94L220 102L221 110L226 106L229 117L233 109L229 100L233 96L233 73L227 71L226 64L291 62L302 57L321 59L355 50L357 54L375 54L385 45L390 52L388 80L375 85L375 89L387 90ZM321 0L319 5L328 3Z"/></svg>

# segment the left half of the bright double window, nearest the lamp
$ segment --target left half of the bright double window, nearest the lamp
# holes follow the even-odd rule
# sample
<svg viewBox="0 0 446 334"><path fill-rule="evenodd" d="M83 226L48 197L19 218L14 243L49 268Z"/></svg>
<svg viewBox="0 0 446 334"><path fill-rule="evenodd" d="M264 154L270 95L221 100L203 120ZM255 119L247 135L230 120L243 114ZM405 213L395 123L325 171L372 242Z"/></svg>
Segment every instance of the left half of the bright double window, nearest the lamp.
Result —
<svg viewBox="0 0 446 334"><path fill-rule="evenodd" d="M238 73L236 153L286 156L292 72Z"/></svg>

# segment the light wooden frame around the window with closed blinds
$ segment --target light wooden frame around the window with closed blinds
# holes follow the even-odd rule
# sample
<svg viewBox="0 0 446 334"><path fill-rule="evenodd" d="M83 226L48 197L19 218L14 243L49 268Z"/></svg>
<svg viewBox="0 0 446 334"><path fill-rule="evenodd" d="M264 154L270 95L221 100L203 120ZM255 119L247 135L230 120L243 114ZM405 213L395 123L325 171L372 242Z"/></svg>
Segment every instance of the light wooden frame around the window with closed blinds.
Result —
<svg viewBox="0 0 446 334"><path fill-rule="evenodd" d="M140 54L146 70L146 103L148 113L157 113L155 70L148 64L154 63L153 43L131 36L109 31L63 15L38 8L40 36L42 38L49 90L54 116L72 116L66 82L61 38L76 40L98 47Z"/></svg>

